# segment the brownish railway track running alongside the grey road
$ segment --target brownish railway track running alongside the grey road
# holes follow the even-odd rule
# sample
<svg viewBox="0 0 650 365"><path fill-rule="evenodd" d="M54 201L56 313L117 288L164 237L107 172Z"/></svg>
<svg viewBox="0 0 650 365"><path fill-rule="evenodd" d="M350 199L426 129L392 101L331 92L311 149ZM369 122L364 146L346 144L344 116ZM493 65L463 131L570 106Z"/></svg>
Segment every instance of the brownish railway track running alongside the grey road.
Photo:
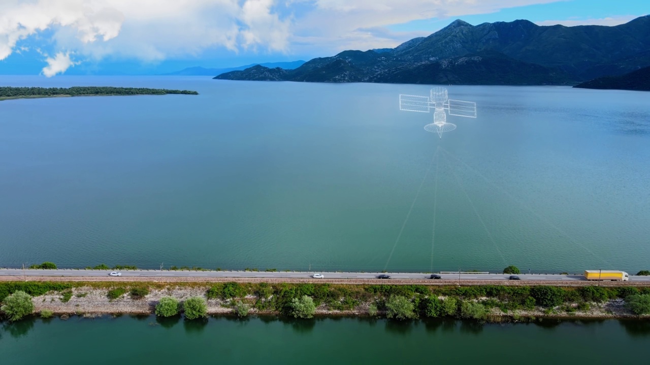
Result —
<svg viewBox="0 0 650 365"><path fill-rule="evenodd" d="M0 281L66 281L66 282L155 282L155 283L313 283L313 284L347 284L347 285L430 285L430 286L476 286L476 285L503 285L503 286L650 286L650 281L560 281L560 280L380 280L380 279L291 279L291 278L250 278L250 277L65 277L65 276L3 276Z"/></svg>

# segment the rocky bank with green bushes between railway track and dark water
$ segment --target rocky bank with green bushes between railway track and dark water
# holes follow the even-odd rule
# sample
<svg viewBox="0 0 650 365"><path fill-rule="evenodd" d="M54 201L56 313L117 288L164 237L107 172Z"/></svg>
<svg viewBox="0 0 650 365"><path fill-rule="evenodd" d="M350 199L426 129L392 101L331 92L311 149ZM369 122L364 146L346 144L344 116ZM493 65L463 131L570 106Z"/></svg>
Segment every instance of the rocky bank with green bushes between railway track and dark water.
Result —
<svg viewBox="0 0 650 365"><path fill-rule="evenodd" d="M396 320L451 317L512 321L545 317L640 318L650 313L650 288L631 286L0 283L0 301L7 301L16 292L32 296L32 311L45 314L150 314L162 298L179 303L177 312L183 312L183 303L188 299L200 298L196 300L205 301L205 315L276 314L296 318L346 314Z"/></svg>

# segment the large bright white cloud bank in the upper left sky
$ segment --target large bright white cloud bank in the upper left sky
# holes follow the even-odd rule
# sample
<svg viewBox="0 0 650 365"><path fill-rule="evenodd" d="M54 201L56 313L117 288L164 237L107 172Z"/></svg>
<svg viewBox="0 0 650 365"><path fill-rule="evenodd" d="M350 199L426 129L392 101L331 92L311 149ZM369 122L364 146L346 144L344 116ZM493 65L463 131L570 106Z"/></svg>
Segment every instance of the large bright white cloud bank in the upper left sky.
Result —
<svg viewBox="0 0 650 365"><path fill-rule="evenodd" d="M276 0L0 0L0 60L49 29L56 51L162 60L209 47L285 51Z"/></svg>

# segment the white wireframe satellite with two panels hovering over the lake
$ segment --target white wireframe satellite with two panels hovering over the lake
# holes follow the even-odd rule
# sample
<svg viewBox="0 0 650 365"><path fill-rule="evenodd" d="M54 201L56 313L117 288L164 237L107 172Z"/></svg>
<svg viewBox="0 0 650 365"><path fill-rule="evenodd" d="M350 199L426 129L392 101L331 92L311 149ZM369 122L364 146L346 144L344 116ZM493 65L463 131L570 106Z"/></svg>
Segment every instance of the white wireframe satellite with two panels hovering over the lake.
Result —
<svg viewBox="0 0 650 365"><path fill-rule="evenodd" d="M476 118L476 103L449 99L447 88L435 87L429 96L400 94L400 110L407 112L428 113L434 109L434 122L424 126L427 132L437 133L443 138L443 132L456 129L454 123L447 123L447 112L450 116Z"/></svg>

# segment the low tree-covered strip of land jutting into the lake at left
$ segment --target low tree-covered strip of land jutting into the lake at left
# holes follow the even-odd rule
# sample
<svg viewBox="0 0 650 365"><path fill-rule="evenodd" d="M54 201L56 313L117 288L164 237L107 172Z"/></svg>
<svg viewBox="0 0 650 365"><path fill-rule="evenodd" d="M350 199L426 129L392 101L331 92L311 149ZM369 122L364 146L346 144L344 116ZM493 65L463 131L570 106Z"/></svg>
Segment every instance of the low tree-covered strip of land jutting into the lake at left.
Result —
<svg viewBox="0 0 650 365"><path fill-rule="evenodd" d="M73 86L71 88L40 88L0 86L0 100L36 97L116 96L116 95L198 95L193 90L153 88L117 88L113 86Z"/></svg>

